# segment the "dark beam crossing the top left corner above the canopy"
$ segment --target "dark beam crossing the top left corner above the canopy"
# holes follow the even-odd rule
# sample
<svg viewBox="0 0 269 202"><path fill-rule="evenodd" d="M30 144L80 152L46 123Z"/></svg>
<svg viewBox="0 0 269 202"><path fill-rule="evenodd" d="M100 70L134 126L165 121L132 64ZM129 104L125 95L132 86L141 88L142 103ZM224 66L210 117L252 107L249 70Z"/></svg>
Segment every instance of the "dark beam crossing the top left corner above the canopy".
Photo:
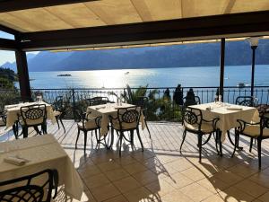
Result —
<svg viewBox="0 0 269 202"><path fill-rule="evenodd" d="M1 0L0 13L40 8L61 4L77 4L99 0Z"/></svg>

